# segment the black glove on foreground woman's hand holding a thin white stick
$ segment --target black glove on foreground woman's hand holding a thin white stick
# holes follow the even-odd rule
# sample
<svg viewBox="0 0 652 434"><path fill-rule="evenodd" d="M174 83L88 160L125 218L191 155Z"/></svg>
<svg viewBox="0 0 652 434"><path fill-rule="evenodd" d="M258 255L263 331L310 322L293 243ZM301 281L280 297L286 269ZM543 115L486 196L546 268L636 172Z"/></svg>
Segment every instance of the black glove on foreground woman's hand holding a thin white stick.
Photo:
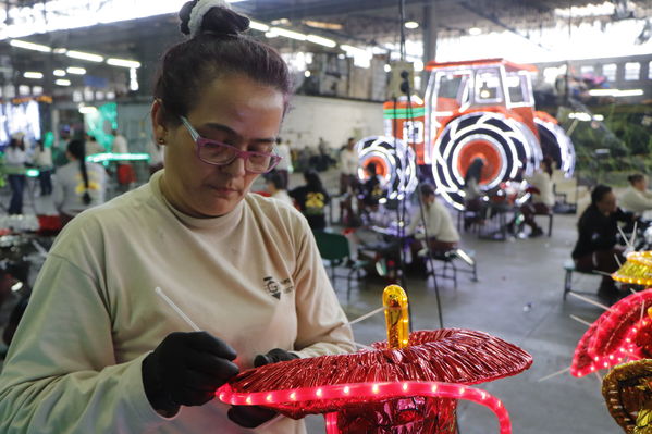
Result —
<svg viewBox="0 0 652 434"><path fill-rule="evenodd" d="M171 416L201 406L239 369L229 344L207 332L171 333L143 360L143 386L151 407Z"/></svg>

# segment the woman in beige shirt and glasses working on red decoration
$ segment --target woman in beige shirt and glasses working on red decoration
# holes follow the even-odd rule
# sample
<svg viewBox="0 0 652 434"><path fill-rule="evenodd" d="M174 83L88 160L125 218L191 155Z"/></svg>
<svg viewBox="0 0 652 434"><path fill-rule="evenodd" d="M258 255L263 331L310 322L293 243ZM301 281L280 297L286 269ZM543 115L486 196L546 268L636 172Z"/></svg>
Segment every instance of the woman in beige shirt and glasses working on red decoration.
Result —
<svg viewBox="0 0 652 434"><path fill-rule="evenodd" d="M151 107L165 169L59 236L0 376L2 433L250 433L274 412L214 392L257 355L354 350L305 220L248 194L278 162L287 66L231 10L180 15L192 37L163 55Z"/></svg>

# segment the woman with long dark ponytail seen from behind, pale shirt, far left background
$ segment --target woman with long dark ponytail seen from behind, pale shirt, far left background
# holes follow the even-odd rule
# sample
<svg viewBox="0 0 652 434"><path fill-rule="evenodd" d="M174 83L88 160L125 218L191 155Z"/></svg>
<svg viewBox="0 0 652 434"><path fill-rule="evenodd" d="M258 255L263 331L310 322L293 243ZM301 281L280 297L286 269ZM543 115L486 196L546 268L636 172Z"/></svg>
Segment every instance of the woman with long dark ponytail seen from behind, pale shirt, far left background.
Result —
<svg viewBox="0 0 652 434"><path fill-rule="evenodd" d="M86 162L84 141L71 140L65 156L70 162L54 175L54 206L63 226L79 212L103 203L107 186L104 168Z"/></svg>

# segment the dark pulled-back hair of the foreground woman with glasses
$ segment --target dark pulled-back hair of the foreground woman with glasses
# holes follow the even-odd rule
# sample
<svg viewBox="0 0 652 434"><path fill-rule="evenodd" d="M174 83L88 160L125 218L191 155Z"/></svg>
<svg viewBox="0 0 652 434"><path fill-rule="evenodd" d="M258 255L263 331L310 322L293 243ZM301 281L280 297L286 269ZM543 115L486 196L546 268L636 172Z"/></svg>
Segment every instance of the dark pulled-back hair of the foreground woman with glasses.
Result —
<svg viewBox="0 0 652 434"><path fill-rule="evenodd" d="M181 30L190 34L190 12L197 0L183 5ZM200 29L190 39L171 47L162 57L153 88L161 101L163 120L173 125L187 115L199 100L202 87L218 76L245 74L253 80L280 90L285 109L292 77L281 55L270 46L243 35L249 20L222 7L211 8Z"/></svg>

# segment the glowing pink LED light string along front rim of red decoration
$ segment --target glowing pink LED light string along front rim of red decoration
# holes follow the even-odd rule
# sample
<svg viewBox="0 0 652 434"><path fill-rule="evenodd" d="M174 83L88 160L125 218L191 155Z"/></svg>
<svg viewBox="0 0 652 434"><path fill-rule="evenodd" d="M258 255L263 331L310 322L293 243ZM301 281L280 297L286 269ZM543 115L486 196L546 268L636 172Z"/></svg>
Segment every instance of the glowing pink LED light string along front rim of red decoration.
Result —
<svg viewBox="0 0 652 434"><path fill-rule="evenodd" d="M440 382L391 382L391 383L350 383L320 387L300 387L274 392L234 392L229 384L216 393L218 398L232 406L266 406L275 408L290 404L313 402L316 400L342 400L355 397L356 400L389 399L410 396L431 398L466 399L489 408L499 420L500 434L510 434L512 423L503 402L489 393L463 384ZM328 434L339 434L337 413L324 414Z"/></svg>

